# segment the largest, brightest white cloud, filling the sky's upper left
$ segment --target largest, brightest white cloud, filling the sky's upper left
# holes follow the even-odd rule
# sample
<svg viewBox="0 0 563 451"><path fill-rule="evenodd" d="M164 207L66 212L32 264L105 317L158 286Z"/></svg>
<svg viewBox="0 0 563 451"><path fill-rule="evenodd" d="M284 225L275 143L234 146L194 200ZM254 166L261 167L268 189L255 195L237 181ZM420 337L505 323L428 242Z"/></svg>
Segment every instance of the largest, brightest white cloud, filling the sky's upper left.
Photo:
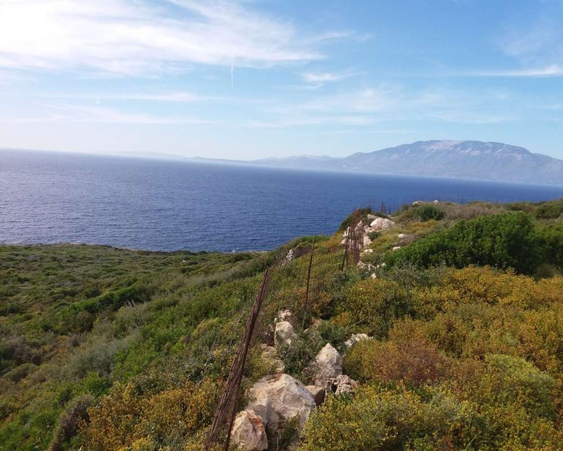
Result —
<svg viewBox="0 0 563 451"><path fill-rule="evenodd" d="M243 3L169 0L0 3L0 67L154 75L193 64L269 67L323 58L310 37ZM350 36L335 33L332 38ZM328 37L327 37L328 38Z"/></svg>

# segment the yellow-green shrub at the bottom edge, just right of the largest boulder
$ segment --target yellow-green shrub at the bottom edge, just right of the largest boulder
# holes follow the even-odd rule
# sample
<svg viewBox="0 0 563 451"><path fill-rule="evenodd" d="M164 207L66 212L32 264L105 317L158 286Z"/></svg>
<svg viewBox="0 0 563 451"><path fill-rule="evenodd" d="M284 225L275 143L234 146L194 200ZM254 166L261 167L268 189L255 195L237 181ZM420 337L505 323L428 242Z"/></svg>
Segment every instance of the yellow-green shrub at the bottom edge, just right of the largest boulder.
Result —
<svg viewBox="0 0 563 451"><path fill-rule="evenodd" d="M306 423L298 451L421 449L421 440L453 449L469 443L471 417L471 404L444 390L422 399L402 387L363 387L354 397L329 396Z"/></svg>

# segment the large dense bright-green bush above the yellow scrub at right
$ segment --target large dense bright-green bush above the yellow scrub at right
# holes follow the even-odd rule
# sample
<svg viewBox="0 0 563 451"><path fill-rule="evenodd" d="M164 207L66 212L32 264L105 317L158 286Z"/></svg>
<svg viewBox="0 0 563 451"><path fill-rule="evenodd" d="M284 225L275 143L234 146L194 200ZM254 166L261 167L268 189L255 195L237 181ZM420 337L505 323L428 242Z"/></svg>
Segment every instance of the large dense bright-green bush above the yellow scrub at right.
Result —
<svg viewBox="0 0 563 451"><path fill-rule="evenodd" d="M385 258L388 267L403 262L429 267L445 263L462 268L472 264L535 271L542 248L535 224L525 213L502 213L461 220L403 247Z"/></svg>

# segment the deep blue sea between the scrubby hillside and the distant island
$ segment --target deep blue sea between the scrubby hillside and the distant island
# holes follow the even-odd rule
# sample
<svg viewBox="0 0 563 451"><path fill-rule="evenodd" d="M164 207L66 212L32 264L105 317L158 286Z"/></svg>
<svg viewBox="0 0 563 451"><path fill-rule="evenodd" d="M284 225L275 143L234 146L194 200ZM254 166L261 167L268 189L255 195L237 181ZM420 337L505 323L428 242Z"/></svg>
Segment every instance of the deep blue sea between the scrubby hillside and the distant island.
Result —
<svg viewBox="0 0 563 451"><path fill-rule="evenodd" d="M0 243L266 250L333 233L352 209L539 201L563 187L0 151Z"/></svg>

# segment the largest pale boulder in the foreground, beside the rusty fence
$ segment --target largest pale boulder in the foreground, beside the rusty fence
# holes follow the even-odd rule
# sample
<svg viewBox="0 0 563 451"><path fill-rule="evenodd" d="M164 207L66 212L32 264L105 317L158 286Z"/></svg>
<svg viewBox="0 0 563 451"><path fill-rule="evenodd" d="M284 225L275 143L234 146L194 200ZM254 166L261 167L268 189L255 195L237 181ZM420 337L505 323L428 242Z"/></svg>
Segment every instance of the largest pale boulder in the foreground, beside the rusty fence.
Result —
<svg viewBox="0 0 563 451"><path fill-rule="evenodd" d="M289 374L258 379L250 389L249 396L252 401L247 409L254 410L263 425L274 429L278 428L280 417L290 419L297 416L299 427L303 427L315 408L313 395Z"/></svg>

